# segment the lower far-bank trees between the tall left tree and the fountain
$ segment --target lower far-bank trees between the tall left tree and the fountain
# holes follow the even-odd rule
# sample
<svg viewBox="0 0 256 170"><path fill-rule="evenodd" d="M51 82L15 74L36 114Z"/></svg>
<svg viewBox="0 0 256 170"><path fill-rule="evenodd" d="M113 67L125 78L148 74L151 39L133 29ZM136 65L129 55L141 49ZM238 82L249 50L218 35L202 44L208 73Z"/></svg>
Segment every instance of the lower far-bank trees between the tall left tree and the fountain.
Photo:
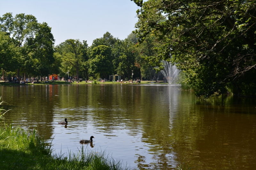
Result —
<svg viewBox="0 0 256 170"><path fill-rule="evenodd" d="M67 39L54 47L54 55L61 61L60 75L69 71L77 80L80 77L86 80L108 79L114 74L124 75L130 80L132 73L133 79L155 80L156 70L143 58L148 54L156 55L154 46L148 45L139 44L135 33L120 40L106 32L103 37L94 39L91 46L85 40ZM149 53L148 49L152 52Z"/></svg>

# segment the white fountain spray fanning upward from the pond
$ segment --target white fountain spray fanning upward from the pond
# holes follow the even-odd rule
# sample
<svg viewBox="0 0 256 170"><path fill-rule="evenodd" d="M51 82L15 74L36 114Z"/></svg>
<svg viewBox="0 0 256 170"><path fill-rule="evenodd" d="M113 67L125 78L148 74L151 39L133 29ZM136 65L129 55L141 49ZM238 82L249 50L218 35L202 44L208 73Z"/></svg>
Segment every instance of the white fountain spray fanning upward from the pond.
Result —
<svg viewBox="0 0 256 170"><path fill-rule="evenodd" d="M172 65L171 62L162 60L164 63L164 70L161 70L161 73L164 74L165 80L168 81L169 85L175 80L180 70L176 66Z"/></svg>

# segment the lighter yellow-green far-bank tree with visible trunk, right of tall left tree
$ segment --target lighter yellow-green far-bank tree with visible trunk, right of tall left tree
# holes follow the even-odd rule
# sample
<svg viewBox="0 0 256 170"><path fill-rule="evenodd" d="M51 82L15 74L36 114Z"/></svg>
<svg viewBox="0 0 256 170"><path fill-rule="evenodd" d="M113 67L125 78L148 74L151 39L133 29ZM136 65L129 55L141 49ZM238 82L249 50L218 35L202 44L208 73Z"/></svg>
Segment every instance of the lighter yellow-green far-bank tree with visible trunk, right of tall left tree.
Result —
<svg viewBox="0 0 256 170"><path fill-rule="evenodd" d="M74 69L76 72L76 81L79 81L79 70L86 60L87 47L87 41L83 41L82 43L79 39L67 39L56 47L56 52L62 56L63 72Z"/></svg>

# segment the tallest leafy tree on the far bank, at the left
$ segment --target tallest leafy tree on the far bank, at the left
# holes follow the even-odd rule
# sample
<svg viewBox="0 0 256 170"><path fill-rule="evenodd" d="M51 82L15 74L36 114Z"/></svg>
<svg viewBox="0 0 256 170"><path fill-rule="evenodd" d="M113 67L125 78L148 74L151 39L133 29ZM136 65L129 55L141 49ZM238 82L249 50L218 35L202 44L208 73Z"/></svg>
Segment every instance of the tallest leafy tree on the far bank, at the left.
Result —
<svg viewBox="0 0 256 170"><path fill-rule="evenodd" d="M12 13L6 13L0 17L0 29L19 47L23 62L17 66L18 76L19 70L32 75L51 73L54 39L46 23L38 23L33 15L21 13L12 17Z"/></svg>

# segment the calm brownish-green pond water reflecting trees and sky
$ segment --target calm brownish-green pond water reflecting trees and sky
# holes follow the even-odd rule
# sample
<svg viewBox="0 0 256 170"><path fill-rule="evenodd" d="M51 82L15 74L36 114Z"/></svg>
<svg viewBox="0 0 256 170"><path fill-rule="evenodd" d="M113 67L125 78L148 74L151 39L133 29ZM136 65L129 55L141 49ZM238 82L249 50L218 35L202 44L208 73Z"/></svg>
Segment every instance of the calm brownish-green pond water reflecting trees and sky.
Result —
<svg viewBox="0 0 256 170"><path fill-rule="evenodd" d="M52 139L57 154L87 149L132 169L256 169L255 99L203 100L168 85L1 86L5 118ZM68 119L68 125L58 122Z"/></svg>

